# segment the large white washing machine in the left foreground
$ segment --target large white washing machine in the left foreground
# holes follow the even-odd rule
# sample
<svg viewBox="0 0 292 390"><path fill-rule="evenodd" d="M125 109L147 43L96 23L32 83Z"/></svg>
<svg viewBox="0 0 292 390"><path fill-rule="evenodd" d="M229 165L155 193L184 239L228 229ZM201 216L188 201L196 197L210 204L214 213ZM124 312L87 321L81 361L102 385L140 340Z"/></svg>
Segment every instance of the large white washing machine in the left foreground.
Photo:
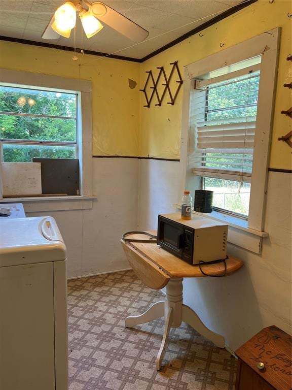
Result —
<svg viewBox="0 0 292 390"><path fill-rule="evenodd" d="M66 247L52 217L0 221L0 389L66 390Z"/></svg>

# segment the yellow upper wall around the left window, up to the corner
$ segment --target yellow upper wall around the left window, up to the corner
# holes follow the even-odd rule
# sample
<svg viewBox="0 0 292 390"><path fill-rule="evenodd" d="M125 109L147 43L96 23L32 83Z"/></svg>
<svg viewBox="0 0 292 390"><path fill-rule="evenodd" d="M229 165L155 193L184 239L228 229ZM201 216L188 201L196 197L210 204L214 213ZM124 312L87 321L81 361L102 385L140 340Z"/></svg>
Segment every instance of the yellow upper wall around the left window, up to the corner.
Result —
<svg viewBox="0 0 292 390"><path fill-rule="evenodd" d="M86 54L73 61L72 55L0 41L0 68L91 80L93 154L137 156L140 64Z"/></svg>

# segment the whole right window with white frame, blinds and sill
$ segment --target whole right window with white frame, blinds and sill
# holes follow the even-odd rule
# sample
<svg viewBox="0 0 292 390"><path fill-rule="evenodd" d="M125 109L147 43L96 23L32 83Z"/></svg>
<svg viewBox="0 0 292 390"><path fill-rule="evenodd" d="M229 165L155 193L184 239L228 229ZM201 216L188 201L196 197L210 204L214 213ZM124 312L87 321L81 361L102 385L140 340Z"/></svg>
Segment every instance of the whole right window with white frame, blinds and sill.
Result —
<svg viewBox="0 0 292 390"><path fill-rule="evenodd" d="M255 253L267 235L279 41L277 27L191 63L184 72L180 192L213 190L215 211L204 216L224 220L228 241Z"/></svg>

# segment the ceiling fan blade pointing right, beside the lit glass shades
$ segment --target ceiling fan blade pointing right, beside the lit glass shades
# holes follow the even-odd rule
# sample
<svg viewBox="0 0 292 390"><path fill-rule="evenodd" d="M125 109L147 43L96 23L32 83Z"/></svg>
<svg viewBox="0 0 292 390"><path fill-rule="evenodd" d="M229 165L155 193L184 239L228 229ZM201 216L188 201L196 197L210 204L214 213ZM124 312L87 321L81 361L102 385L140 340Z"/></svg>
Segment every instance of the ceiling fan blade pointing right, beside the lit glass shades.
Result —
<svg viewBox="0 0 292 390"><path fill-rule="evenodd" d="M108 26L113 27L132 41L139 43L148 37L149 32L147 30L106 4L101 2L85 3L88 4L89 11L93 16Z"/></svg>

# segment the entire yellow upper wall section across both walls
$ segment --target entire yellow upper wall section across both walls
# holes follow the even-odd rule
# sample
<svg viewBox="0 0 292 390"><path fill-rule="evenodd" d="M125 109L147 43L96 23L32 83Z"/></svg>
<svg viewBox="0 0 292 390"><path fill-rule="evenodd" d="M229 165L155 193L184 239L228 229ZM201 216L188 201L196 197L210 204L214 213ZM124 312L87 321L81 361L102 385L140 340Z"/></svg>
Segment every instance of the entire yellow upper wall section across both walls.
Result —
<svg viewBox="0 0 292 390"><path fill-rule="evenodd" d="M283 88L291 82L291 12L289 0L259 0L238 13L206 28L199 34L173 46L142 64L79 55L72 61L72 53L0 41L0 68L44 73L92 81L93 85L93 154L152 156L179 158L181 131L182 89L174 106L167 104L167 95L161 107L142 107L144 99L139 88L144 85L145 71L164 66L170 72L169 62L178 60L179 68L211 55L274 27L282 27L278 86L272 134L270 167L290 169L291 149L278 137L291 130L291 119L280 114L291 102L291 91ZM224 44L223 48L220 43ZM128 79L137 82L129 88ZM163 80L161 79L161 83ZM162 88L162 85L160 85ZM148 90L150 92L150 90Z"/></svg>

